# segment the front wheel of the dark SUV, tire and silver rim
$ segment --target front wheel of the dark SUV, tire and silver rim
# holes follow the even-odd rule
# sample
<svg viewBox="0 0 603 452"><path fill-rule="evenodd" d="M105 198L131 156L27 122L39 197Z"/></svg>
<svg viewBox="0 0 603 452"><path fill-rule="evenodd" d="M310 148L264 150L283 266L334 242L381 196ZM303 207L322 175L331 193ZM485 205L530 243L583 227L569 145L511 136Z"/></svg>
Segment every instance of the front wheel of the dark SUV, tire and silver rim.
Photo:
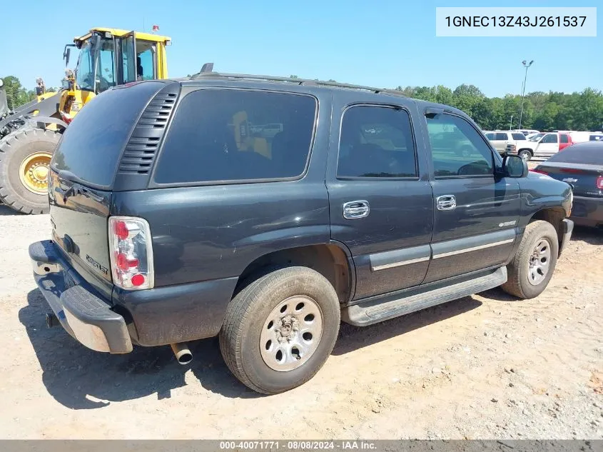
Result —
<svg viewBox="0 0 603 452"><path fill-rule="evenodd" d="M547 221L527 225L515 253L507 266L507 282L502 290L518 298L534 298L547 288L557 265L559 241L557 231Z"/></svg>

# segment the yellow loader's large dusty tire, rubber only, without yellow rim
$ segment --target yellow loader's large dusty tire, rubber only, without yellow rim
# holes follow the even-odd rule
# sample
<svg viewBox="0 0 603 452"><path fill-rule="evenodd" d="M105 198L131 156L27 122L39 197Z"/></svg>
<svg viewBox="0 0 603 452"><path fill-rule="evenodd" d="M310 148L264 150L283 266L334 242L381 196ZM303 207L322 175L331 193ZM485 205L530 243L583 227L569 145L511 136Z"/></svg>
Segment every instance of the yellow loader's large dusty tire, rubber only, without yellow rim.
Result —
<svg viewBox="0 0 603 452"><path fill-rule="evenodd" d="M19 179L21 162L36 152L54 153L61 134L44 129L19 129L0 141L0 201L24 214L46 214L47 194L26 189Z"/></svg>

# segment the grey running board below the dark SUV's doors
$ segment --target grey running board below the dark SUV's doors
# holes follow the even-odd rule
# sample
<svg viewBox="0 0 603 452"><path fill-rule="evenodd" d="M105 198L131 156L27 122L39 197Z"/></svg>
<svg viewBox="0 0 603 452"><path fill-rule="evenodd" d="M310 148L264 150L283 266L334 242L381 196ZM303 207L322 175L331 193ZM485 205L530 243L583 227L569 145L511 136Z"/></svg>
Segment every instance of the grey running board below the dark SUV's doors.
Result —
<svg viewBox="0 0 603 452"><path fill-rule="evenodd" d="M487 291L507 282L507 267L497 268L494 272L471 279L462 283L452 284L432 291L417 293L416 295L395 298L384 301L366 301L354 306L348 306L341 311L341 318L345 323L355 326L367 326L389 318L404 316L405 314L430 308L437 304L447 303L474 293Z"/></svg>

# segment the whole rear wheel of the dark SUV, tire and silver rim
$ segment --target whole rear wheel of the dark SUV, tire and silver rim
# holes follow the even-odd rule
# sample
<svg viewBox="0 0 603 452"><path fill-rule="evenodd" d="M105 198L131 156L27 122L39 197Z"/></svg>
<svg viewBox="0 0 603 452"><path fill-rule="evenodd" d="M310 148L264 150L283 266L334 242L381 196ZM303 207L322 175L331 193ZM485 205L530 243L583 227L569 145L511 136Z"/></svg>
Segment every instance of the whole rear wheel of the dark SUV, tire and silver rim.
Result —
<svg viewBox="0 0 603 452"><path fill-rule="evenodd" d="M337 293L320 273L288 267L243 288L228 305L220 331L226 365L264 394L302 385L323 366L337 339Z"/></svg>

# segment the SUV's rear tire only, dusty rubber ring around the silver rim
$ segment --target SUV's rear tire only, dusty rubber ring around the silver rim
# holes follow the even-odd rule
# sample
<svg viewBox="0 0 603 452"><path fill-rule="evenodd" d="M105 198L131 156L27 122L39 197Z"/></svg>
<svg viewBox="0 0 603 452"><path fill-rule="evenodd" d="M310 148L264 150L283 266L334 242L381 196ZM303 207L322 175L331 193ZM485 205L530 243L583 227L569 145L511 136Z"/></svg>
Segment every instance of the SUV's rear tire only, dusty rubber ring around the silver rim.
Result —
<svg viewBox="0 0 603 452"><path fill-rule="evenodd" d="M268 315L291 296L307 296L322 313L317 348L297 368L276 371L260 352L260 334ZM323 366L337 340L340 306L330 282L307 267L280 268L243 288L228 305L220 331L220 350L230 371L245 386L263 394L276 394L302 385Z"/></svg>

